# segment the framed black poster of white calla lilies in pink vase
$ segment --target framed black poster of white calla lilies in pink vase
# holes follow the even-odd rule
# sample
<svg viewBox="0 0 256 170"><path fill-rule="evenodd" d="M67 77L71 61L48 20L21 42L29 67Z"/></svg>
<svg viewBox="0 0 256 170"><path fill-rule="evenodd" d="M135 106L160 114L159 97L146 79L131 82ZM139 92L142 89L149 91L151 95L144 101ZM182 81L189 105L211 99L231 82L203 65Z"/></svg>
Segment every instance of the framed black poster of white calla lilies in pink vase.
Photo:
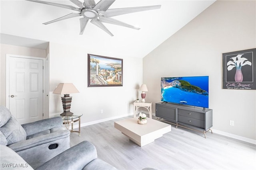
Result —
<svg viewBox="0 0 256 170"><path fill-rule="evenodd" d="M223 89L256 90L256 48L222 54Z"/></svg>

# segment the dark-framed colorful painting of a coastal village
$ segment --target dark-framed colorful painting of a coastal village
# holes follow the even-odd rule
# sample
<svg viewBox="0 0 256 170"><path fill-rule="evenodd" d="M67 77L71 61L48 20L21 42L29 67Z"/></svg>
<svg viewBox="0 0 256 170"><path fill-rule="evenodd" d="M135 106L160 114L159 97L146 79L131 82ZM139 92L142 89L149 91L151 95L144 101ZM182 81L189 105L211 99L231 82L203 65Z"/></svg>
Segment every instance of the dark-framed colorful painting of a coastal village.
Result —
<svg viewBox="0 0 256 170"><path fill-rule="evenodd" d="M88 87L123 86L123 59L88 54Z"/></svg>

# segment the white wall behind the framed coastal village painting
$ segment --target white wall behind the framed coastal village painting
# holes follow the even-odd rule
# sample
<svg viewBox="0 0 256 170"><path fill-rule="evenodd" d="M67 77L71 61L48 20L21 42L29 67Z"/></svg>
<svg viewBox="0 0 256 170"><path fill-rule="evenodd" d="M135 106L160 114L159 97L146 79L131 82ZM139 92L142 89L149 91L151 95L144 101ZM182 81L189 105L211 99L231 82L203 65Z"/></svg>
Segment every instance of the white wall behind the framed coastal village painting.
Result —
<svg viewBox="0 0 256 170"><path fill-rule="evenodd" d="M83 113L81 123L129 115L133 113L133 102L138 98L142 84L142 59L116 55L109 51L90 51L86 47L75 47L50 42L50 117L62 113L60 94L52 94L59 83L73 83L80 93L70 94L70 111ZM87 87L87 54L123 59L123 86ZM103 109L103 114L100 114Z"/></svg>

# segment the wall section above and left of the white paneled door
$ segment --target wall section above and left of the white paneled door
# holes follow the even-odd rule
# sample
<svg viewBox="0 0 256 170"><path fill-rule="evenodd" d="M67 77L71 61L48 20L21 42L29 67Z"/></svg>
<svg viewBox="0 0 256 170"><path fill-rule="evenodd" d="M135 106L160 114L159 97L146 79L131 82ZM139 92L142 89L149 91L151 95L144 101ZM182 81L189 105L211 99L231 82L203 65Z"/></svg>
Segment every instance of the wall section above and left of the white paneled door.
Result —
<svg viewBox="0 0 256 170"><path fill-rule="evenodd" d="M0 105L6 105L6 54L46 57L46 50L0 44Z"/></svg>

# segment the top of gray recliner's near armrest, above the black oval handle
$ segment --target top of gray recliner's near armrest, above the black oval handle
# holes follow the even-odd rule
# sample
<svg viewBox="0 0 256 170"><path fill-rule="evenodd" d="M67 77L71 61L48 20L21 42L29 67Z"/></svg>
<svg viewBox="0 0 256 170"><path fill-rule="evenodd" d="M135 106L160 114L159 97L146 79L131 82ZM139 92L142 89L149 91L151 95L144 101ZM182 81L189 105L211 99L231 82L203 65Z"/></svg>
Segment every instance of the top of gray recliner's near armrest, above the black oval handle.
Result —
<svg viewBox="0 0 256 170"><path fill-rule="evenodd" d="M44 143L49 143L52 141L56 141L58 139L62 139L65 137L69 137L70 135L70 131L65 129L62 131L56 131L54 133L49 133L46 135L42 135L39 137L34 137L31 139L27 139L25 141L20 141L17 143L13 143L11 145L8 145L8 147L10 147L12 150L14 150L15 152L18 152L20 150L25 150L28 148L32 148L32 147L36 147L38 145L42 145Z"/></svg>

